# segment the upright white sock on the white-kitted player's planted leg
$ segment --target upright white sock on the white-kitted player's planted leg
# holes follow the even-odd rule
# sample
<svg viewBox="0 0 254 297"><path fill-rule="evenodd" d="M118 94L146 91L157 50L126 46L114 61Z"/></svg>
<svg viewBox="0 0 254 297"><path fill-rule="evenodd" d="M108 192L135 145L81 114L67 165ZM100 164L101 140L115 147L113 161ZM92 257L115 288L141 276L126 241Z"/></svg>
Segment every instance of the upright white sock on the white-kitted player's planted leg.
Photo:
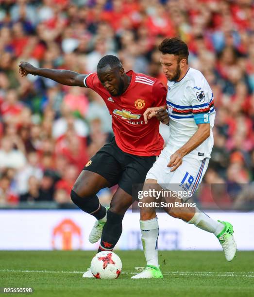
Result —
<svg viewBox="0 0 254 297"><path fill-rule="evenodd" d="M157 216L152 220L140 220L140 229L142 234L141 240L147 264L159 267L157 244L159 236L159 225Z"/></svg>

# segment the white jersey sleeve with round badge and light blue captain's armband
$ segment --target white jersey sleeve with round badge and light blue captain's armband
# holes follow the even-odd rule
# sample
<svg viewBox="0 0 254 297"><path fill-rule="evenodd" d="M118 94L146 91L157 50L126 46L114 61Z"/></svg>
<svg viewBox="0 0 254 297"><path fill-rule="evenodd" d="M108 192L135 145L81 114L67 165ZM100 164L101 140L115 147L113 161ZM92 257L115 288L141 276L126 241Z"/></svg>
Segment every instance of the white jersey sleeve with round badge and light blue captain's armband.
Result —
<svg viewBox="0 0 254 297"><path fill-rule="evenodd" d="M213 99L212 90L208 82L204 81L199 86L190 86L190 103L196 124L210 123L210 101Z"/></svg>

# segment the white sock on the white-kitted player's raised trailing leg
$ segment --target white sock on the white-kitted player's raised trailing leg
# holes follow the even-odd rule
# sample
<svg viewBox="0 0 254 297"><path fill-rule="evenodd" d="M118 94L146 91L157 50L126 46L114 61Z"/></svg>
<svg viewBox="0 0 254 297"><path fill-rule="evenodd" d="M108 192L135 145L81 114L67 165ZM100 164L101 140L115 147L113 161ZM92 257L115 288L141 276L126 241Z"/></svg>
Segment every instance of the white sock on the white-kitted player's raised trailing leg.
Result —
<svg viewBox="0 0 254 297"><path fill-rule="evenodd" d="M201 212L198 208L196 208L196 213L187 223L194 224L198 228L214 233L215 235L220 234L224 228L222 223L213 220L207 214Z"/></svg>

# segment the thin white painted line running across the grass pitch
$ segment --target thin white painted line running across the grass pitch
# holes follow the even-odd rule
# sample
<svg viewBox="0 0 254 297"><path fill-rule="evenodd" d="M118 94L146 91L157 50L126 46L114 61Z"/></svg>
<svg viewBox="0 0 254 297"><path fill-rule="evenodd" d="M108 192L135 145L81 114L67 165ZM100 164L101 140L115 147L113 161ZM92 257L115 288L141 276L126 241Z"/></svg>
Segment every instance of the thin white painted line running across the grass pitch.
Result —
<svg viewBox="0 0 254 297"><path fill-rule="evenodd" d="M29 272L29 273L84 273L84 271L49 271L49 270L13 270L13 269L3 269L0 272ZM130 274L134 275L138 272L125 272L122 274ZM254 272L216 272L216 271L203 271L203 272L195 272L195 271L170 271L163 273L163 275L183 275L183 276L208 276L208 277L217 277L217 276L225 276L225 277L244 277L244 278L254 278Z"/></svg>

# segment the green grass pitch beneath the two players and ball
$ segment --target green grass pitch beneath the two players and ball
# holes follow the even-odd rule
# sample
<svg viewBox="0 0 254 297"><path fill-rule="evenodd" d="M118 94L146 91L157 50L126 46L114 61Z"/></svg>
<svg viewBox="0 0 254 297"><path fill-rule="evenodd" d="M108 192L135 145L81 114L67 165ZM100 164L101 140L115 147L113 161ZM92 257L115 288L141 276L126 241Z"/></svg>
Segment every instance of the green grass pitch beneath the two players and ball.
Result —
<svg viewBox="0 0 254 297"><path fill-rule="evenodd" d="M145 263L142 251L116 253L119 279L97 280L82 278L92 251L0 251L0 287L32 287L34 297L254 296L254 251L237 252L231 263L222 251L160 251L164 278L157 280L130 279Z"/></svg>

